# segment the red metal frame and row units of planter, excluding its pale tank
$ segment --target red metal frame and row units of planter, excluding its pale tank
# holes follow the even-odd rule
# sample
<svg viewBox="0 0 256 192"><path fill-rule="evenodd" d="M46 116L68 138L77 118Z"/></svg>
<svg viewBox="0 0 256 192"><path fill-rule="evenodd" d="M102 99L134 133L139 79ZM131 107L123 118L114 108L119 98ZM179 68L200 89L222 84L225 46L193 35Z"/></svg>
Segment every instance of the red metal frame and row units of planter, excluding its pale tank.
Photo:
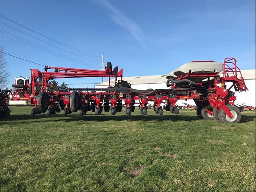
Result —
<svg viewBox="0 0 256 192"><path fill-rule="evenodd" d="M205 62L205 61L195 61ZM213 61L207 61L213 62ZM54 72L48 70L54 69ZM83 110L80 115L85 114L88 110L88 106L92 106L92 111L96 115L102 111L104 104L105 111L108 111L109 102L111 104L111 114L116 114L116 111L122 110L122 101L125 101L126 114L130 115L134 110L135 101L139 101L141 113L146 114L147 104L149 101L154 102L154 110L158 114L163 114L161 103L166 103L166 110L170 110L174 114L178 114L178 108L176 108L177 100L193 99L197 105L198 116L200 116L200 110L206 110L206 114L211 116L214 110L217 112L224 110L228 118L232 118L227 105L234 106L236 96L230 91L234 87L235 91L242 92L248 90L244 78L242 77L241 70L236 65L235 58L226 58L223 63L222 72L196 72L185 73L175 78L175 80L184 81L184 87L181 84L172 83L169 88L159 90L134 90L132 88L114 87L110 88L110 78L114 77L117 82L118 77L122 80L123 70L118 72L118 67L112 68L105 67L105 71L101 70L86 70L76 68L62 68L62 67L45 67L44 72L40 72L38 69L31 69L31 91L30 102L35 104L32 109L31 115L40 114L46 112L47 116L60 112L58 106L66 112L63 115L76 112L77 110ZM92 88L72 88L66 91L57 90L51 91L48 88L51 86L49 80L56 78L82 78L82 77L108 77L109 88L108 89L92 89ZM38 78L42 78L42 83L38 82ZM197 86L186 83L187 79L201 78L204 81L198 82ZM226 87L227 82L232 82L230 88ZM40 90L36 90L36 87L40 86ZM44 101L42 100L42 94L44 94ZM77 93L73 93L77 92ZM73 94L72 94L73 93ZM38 110L38 95L40 94L40 110ZM75 101L74 101L75 100ZM72 101L72 102L71 102ZM42 102L46 106L42 110ZM94 109L95 106L95 109ZM106 106L106 108L105 108ZM57 110L56 110L57 108ZM87 108L87 109L86 109ZM45 110L46 109L46 110ZM48 110L51 110L50 112Z"/></svg>

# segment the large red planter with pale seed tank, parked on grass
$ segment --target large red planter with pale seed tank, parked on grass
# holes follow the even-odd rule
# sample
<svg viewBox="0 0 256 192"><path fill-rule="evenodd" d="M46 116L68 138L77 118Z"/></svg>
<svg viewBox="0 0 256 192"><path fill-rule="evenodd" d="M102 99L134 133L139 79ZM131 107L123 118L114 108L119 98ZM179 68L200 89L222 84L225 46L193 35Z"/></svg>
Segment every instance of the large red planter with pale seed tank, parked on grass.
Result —
<svg viewBox="0 0 256 192"><path fill-rule="evenodd" d="M54 69L54 72L48 70ZM55 78L108 77L109 87L105 89L72 88L51 91L49 80ZM115 77L115 85L110 86L110 77ZM118 77L121 80L117 80ZM42 79L42 83L38 79ZM206 120L217 120L224 123L237 123L241 119L240 110L234 105L235 91L242 92L246 88L235 58L226 58L224 63L214 61L193 61L167 75L166 89L132 89L128 82L122 80L122 69L112 70L111 63L105 71L72 69L61 67L45 67L44 72L31 70L31 85L29 100L35 104L31 116L46 113L46 116L61 112L64 116L79 111L79 115L92 110L99 115L103 108L105 112L122 111L125 105L126 114L134 111L134 104L140 104L140 112L147 114L147 104L154 102L154 111L162 115L161 103L166 104L165 110L179 114L175 105L177 100L193 99L196 103L196 113ZM232 85L227 87L227 83ZM20 90L21 91L21 90ZM125 103L125 104L124 104Z"/></svg>

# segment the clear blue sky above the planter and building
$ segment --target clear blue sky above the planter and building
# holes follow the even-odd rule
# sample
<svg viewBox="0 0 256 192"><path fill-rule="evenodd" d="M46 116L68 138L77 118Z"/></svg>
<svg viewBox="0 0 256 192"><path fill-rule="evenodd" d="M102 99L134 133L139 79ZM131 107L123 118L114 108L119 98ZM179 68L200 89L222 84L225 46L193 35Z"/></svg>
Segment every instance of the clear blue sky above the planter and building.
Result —
<svg viewBox="0 0 256 192"><path fill-rule="evenodd" d="M0 0L0 14L92 54L68 49L0 18L0 22L47 42L0 23L0 46L4 51L43 65L100 69L98 57L103 52L112 65L124 68L124 76L167 74L192 60L223 61L226 57L235 57L242 69L255 68L253 0ZM2 36L8 36L3 32L84 65L10 40ZM6 61L11 73L9 84L15 76L30 76L30 68L43 70L42 66L10 56ZM100 78L65 82L92 83L100 82Z"/></svg>

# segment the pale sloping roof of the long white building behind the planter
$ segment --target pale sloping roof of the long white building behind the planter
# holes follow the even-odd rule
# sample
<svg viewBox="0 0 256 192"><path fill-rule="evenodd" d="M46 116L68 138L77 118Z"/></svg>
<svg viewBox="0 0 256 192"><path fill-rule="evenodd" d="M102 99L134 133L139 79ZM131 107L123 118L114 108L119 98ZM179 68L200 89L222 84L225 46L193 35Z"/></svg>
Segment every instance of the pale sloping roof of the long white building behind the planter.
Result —
<svg viewBox="0 0 256 192"><path fill-rule="evenodd" d="M255 79L255 69L241 70L244 80ZM118 78L119 79L119 78ZM154 83L166 83L166 75L150 75L150 76L134 76L134 77L123 77L124 81L134 84L154 84ZM115 84L115 78L110 80L110 84ZM96 84L95 86L108 86L108 81Z"/></svg>

